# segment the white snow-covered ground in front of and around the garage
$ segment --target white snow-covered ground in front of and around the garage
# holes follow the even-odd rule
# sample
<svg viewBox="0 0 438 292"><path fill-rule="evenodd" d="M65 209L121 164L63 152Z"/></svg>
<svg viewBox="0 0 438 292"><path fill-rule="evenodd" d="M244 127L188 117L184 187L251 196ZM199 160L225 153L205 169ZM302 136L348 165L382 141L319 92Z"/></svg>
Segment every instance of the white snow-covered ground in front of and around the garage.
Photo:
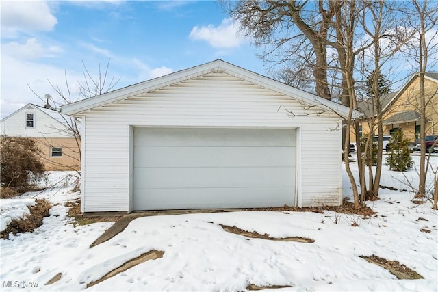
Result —
<svg viewBox="0 0 438 292"><path fill-rule="evenodd" d="M413 159L418 163L418 157ZM438 157L433 157L432 163L436 167ZM404 174L406 177L385 167L381 185L410 190L407 180L415 185L417 174L415 170ZM62 175L53 172L50 181L63 181ZM348 185L344 174L344 196L351 194ZM163 251L164 256L87 290L244 291L248 284L292 286L272 291L438 289L438 213L430 203L413 204L411 192L381 189L381 200L368 202L377 216L368 219L330 211L142 217L110 241L89 248L112 222L73 227L63 204L79 196L71 189L73 180L64 179L38 194L28 193L16 202L1 203L2 224L14 217L8 211L9 204L17 207L23 202L24 206L35 197L47 198L54 204L51 216L34 233L0 240L1 291L18 287L25 291L80 291L108 271L153 249ZM352 223L359 226L353 227ZM248 239L226 233L219 224L271 237L308 237L315 242ZM398 280L382 267L359 258L372 254L399 261L424 279ZM62 273L60 281L45 285L58 273Z"/></svg>

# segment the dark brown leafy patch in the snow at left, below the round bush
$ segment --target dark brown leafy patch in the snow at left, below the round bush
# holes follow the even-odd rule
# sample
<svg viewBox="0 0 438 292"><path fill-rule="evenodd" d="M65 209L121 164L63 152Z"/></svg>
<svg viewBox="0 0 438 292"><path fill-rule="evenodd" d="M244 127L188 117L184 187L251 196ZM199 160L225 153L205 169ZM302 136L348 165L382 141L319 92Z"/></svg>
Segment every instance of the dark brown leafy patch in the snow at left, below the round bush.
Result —
<svg viewBox="0 0 438 292"><path fill-rule="evenodd" d="M37 199L34 206L29 206L30 214L24 219L12 220L6 229L0 233L0 238L9 239L10 233L16 235L17 233L33 232L34 229L42 225L44 217L49 217L50 208L49 201Z"/></svg>

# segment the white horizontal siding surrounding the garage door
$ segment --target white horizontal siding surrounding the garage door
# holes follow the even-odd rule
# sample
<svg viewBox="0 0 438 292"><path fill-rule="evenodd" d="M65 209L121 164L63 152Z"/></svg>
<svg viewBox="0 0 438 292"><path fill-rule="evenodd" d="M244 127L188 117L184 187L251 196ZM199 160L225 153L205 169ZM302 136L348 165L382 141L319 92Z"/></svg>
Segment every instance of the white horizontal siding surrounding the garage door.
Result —
<svg viewBox="0 0 438 292"><path fill-rule="evenodd" d="M220 72L85 111L84 211L129 209L131 126L300 127L298 202L303 207L337 205L342 199L340 121L333 114L316 116L317 112Z"/></svg>

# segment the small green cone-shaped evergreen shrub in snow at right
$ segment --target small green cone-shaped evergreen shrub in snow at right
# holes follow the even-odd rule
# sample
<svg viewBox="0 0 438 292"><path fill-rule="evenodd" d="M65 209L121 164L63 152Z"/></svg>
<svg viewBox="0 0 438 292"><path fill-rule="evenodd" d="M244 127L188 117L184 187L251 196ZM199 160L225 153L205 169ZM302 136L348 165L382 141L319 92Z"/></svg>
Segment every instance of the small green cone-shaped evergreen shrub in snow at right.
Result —
<svg viewBox="0 0 438 292"><path fill-rule="evenodd" d="M391 140L391 152L389 152L386 162L389 170L404 172L412 167L411 150L408 148L409 140L404 138L402 131L395 131Z"/></svg>

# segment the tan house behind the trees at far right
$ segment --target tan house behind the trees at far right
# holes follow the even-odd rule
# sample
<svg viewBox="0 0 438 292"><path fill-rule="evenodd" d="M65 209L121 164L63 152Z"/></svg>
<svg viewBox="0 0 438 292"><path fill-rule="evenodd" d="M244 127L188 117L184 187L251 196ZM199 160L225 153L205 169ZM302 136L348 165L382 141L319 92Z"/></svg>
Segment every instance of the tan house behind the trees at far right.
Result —
<svg viewBox="0 0 438 292"><path fill-rule="evenodd" d="M413 75L398 92L391 92L381 98L383 109L383 135L392 135L400 129L408 140L415 140L420 135L420 84L418 74ZM424 96L426 97L426 135L438 134L438 73L426 72L424 75ZM375 115L376 111L372 101L361 101L358 104L359 111L365 118L361 122L359 133L370 133L368 120ZM377 135L378 131L374 131ZM350 135L350 141L355 141L354 133Z"/></svg>

